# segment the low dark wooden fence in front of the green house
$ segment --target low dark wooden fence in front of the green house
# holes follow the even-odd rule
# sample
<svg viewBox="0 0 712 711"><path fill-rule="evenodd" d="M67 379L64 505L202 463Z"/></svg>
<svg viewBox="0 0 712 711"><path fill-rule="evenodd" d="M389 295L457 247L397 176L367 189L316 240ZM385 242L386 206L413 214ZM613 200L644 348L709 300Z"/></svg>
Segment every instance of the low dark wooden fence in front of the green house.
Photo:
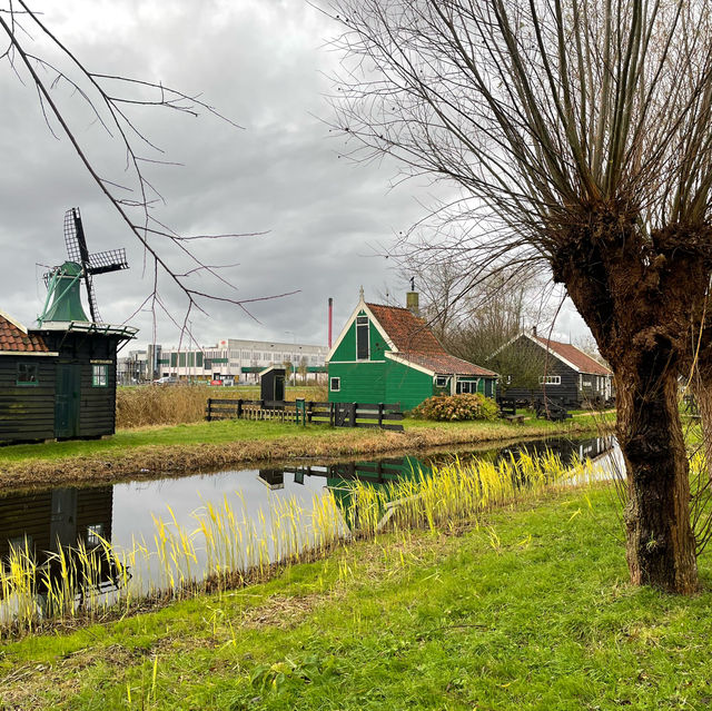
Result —
<svg viewBox="0 0 712 711"><path fill-rule="evenodd" d="M403 432L400 404L315 403L312 401L217 399L209 397L205 418L269 419L332 427L379 427Z"/></svg>

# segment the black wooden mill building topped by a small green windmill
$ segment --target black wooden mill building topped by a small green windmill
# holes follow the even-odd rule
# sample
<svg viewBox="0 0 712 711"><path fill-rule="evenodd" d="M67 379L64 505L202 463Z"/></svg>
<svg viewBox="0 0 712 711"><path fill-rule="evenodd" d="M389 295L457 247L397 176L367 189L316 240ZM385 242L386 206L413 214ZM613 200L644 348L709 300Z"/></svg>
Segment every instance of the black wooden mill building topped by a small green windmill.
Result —
<svg viewBox="0 0 712 711"><path fill-rule="evenodd" d="M89 254L78 208L65 215L65 246L69 259L44 275L38 327L0 312L0 444L115 432L117 350L137 329L101 323L92 278L128 269L126 254Z"/></svg>

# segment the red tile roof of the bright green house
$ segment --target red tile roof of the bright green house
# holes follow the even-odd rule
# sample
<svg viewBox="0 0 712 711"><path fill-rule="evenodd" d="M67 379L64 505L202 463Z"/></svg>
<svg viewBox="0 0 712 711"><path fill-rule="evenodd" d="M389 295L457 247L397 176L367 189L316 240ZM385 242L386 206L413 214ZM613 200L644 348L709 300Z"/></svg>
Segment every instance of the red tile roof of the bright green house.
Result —
<svg viewBox="0 0 712 711"><path fill-rule="evenodd" d="M398 358L441 375L476 375L495 377L496 373L449 355L419 316L400 306L366 304L388 338L398 349Z"/></svg>

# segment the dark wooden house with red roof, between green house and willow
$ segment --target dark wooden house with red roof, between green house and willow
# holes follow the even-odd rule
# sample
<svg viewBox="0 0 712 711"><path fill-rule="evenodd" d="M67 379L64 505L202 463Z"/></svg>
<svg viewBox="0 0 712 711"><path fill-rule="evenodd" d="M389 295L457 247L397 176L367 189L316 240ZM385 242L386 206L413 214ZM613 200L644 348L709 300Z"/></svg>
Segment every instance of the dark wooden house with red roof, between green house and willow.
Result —
<svg viewBox="0 0 712 711"><path fill-rule="evenodd" d="M609 403L613 373L570 343L522 333L488 359L500 373L501 393L517 401L535 402L544 395L566 407Z"/></svg>

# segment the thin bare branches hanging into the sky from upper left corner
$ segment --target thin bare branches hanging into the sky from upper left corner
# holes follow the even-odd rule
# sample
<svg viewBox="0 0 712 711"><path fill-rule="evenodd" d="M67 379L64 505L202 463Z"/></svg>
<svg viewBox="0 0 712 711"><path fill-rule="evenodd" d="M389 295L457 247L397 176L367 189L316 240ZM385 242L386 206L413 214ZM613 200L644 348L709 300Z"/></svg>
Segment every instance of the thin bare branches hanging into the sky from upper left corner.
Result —
<svg viewBox="0 0 712 711"><path fill-rule="evenodd" d="M152 273L154 287L139 309L151 302L154 313L162 310L174 320L174 315L159 295L161 276L178 286L187 299L182 324L174 320L181 330L187 329L191 309L201 309L201 304L206 300L228 302L246 312L247 304L261 300L218 296L218 286L227 287L228 293L235 289L220 275L222 268L234 265L207 264L195 249L196 240L245 235L180 235L156 216L156 205L164 198L149 180L147 167L174 164L141 131L132 116L136 109L158 108L192 116L204 112L229 124L233 121L198 95L188 95L157 81L92 71L52 32L42 14L30 8L24 0L10 0L7 9L0 9L0 32L6 39L0 59L4 60L20 81L34 87L49 130L58 138L63 135L69 140L99 190L141 243L147 257L146 266L149 274ZM62 102L68 96L75 102L75 111ZM120 181L102 175L102 169L90 157L89 138L86 132L77 130L78 126L83 126L86 115L81 110L77 112L77 109L88 111L92 122L106 131L108 139L122 148L126 164ZM236 124L233 126L240 128ZM199 274L211 277L215 286L209 290L205 286L197 287L195 276Z"/></svg>

